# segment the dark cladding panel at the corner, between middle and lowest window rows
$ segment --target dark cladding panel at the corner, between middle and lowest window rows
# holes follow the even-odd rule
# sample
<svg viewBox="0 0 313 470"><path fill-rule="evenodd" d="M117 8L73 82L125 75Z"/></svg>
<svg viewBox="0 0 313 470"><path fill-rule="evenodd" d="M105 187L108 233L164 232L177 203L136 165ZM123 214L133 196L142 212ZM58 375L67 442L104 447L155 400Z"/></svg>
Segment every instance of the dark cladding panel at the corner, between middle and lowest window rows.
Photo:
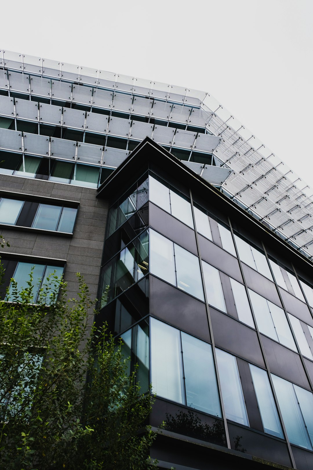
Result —
<svg viewBox="0 0 313 470"><path fill-rule="evenodd" d="M150 275L149 279L150 313L210 342L205 304L154 276Z"/></svg>

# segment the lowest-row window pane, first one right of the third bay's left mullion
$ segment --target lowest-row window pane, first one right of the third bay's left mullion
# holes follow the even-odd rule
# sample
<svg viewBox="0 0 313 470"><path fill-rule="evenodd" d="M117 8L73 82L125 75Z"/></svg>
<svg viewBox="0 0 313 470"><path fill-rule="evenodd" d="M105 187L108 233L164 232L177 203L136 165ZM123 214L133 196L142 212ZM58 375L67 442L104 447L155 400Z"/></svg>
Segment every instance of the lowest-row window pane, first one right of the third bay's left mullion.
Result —
<svg viewBox="0 0 313 470"><path fill-rule="evenodd" d="M272 374L272 379L279 407L282 412L282 419L291 444L312 450L312 445L292 384L274 374Z"/></svg>

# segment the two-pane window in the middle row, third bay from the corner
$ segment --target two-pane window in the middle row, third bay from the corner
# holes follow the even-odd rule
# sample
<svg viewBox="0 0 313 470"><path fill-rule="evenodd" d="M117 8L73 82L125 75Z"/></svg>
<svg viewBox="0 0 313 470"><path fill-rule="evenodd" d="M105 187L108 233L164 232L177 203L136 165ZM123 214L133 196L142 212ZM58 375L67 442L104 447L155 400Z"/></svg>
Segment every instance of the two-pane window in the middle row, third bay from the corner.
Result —
<svg viewBox="0 0 313 470"><path fill-rule="evenodd" d="M289 347L293 351L297 351L286 315L282 308L260 296L253 290L249 289L249 295L260 333L275 339L275 341Z"/></svg>

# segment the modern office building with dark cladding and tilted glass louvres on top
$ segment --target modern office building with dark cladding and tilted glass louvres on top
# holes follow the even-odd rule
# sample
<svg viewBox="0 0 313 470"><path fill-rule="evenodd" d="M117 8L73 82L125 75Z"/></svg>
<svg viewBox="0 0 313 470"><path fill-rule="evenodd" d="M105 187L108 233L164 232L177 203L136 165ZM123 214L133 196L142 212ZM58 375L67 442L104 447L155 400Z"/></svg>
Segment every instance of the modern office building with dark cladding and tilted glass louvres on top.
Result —
<svg viewBox="0 0 313 470"><path fill-rule="evenodd" d="M7 286L84 274L153 384L160 468L308 470L312 200L234 126L202 92L1 51Z"/></svg>

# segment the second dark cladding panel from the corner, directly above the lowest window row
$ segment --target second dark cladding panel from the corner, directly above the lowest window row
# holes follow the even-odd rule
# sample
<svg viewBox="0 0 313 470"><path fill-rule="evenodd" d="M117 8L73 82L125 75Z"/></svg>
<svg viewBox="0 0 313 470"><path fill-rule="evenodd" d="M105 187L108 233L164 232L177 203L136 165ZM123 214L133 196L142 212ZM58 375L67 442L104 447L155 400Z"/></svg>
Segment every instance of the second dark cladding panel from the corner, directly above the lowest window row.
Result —
<svg viewBox="0 0 313 470"><path fill-rule="evenodd" d="M264 367L256 331L210 307L212 331L216 347L221 347Z"/></svg>

